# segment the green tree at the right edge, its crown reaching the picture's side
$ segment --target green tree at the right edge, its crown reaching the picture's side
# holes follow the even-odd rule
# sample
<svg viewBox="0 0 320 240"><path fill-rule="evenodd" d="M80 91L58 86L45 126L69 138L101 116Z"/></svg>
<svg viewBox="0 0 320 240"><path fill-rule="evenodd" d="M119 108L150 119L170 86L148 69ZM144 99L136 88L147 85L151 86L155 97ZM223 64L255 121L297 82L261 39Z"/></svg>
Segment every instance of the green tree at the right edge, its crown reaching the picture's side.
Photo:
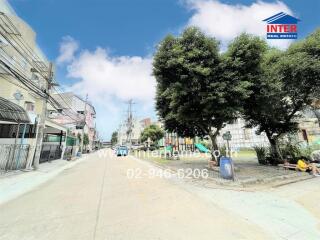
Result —
<svg viewBox="0 0 320 240"><path fill-rule="evenodd" d="M278 142L296 132L302 111L319 97L320 32L292 44L285 52L271 49L265 54L259 78L252 82L252 94L245 101L248 126L265 132L272 153L282 159Z"/></svg>

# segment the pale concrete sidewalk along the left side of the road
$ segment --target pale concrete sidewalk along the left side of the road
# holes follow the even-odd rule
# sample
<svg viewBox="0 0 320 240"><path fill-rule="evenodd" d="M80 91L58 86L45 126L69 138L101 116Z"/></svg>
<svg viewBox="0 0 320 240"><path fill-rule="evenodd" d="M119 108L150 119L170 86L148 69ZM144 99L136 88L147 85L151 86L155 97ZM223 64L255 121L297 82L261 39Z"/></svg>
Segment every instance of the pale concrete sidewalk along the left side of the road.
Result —
<svg viewBox="0 0 320 240"><path fill-rule="evenodd" d="M86 154L72 161L54 160L42 163L37 171L14 171L1 174L0 205L37 188L62 171L81 163L87 157Z"/></svg>

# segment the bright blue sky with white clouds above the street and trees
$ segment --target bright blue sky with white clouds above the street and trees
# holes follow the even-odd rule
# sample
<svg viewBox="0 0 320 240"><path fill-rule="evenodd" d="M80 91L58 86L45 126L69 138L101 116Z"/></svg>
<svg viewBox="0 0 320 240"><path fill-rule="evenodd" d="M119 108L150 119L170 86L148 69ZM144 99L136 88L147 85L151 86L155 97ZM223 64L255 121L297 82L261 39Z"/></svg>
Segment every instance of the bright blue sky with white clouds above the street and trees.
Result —
<svg viewBox="0 0 320 240"><path fill-rule="evenodd" d="M152 56L167 35L197 26L221 51L241 32L265 37L263 19L286 12L301 20L298 37L320 27L319 0L9 0L37 33L67 91L88 94L100 136L108 140L125 119L129 99L137 118L156 120ZM290 41L272 40L285 49Z"/></svg>

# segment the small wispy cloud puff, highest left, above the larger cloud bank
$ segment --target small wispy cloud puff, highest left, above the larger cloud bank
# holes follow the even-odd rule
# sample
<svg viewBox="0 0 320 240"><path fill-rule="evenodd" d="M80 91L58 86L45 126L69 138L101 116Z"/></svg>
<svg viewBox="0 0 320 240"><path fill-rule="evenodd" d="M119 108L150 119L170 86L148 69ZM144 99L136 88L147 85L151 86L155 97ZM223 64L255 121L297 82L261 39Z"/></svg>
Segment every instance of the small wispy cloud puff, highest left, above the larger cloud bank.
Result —
<svg viewBox="0 0 320 240"><path fill-rule="evenodd" d="M79 49L79 43L70 36L62 38L60 44L59 56L57 58L57 64L68 63L73 60L74 54Z"/></svg>

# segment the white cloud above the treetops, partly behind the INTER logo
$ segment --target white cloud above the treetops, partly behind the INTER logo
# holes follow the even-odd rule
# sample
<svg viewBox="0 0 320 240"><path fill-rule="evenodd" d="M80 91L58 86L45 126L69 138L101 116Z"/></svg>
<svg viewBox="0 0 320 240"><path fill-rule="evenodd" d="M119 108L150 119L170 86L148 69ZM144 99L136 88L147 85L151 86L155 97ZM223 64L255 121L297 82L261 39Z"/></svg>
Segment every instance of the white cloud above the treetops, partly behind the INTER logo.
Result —
<svg viewBox="0 0 320 240"><path fill-rule="evenodd" d="M188 25L197 26L205 33L221 41L223 47L242 32L266 36L266 24L262 21L278 12L292 14L281 1L257 1L251 5L231 5L215 0L187 0L187 7L194 11ZM286 48L290 40L268 40L271 46Z"/></svg>

